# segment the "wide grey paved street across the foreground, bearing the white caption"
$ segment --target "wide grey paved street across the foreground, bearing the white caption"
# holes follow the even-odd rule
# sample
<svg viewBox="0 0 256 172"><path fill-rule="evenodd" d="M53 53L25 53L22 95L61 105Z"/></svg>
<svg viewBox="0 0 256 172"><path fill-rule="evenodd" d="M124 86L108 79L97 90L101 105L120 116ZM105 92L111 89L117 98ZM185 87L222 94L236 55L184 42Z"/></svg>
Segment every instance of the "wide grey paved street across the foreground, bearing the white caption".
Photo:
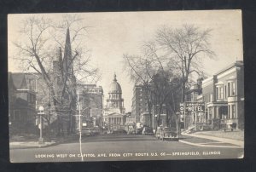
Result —
<svg viewBox="0 0 256 172"><path fill-rule="evenodd" d="M183 137L190 142L216 141ZM218 144L219 145L219 144ZM226 146L227 144L224 144ZM11 162L71 162L158 159L241 158L243 148L193 146L180 141L156 140L153 135L96 135L44 148L12 149Z"/></svg>

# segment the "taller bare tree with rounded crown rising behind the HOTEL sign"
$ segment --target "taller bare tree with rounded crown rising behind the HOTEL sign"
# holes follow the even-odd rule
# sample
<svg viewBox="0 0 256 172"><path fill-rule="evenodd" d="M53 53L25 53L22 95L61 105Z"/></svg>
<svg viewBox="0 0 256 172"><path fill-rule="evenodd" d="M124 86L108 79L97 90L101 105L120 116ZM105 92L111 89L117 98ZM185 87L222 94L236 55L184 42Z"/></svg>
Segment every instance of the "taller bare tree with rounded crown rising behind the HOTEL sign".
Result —
<svg viewBox="0 0 256 172"><path fill-rule="evenodd" d="M182 77L182 101L185 100L185 87L192 72L201 72L201 60L204 57L214 58L210 49L211 30L201 31L198 27L184 25L172 29L163 27L156 34L156 42Z"/></svg>

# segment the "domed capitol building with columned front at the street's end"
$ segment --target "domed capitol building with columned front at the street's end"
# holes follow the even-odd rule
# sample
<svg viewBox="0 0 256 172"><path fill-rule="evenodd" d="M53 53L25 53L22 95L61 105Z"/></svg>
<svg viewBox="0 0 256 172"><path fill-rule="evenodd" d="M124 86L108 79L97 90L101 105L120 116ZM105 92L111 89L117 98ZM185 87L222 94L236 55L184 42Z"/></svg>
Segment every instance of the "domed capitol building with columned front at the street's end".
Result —
<svg viewBox="0 0 256 172"><path fill-rule="evenodd" d="M122 98L121 86L117 82L115 74L109 87L107 106L103 111L103 122L110 130L125 129L124 99Z"/></svg>

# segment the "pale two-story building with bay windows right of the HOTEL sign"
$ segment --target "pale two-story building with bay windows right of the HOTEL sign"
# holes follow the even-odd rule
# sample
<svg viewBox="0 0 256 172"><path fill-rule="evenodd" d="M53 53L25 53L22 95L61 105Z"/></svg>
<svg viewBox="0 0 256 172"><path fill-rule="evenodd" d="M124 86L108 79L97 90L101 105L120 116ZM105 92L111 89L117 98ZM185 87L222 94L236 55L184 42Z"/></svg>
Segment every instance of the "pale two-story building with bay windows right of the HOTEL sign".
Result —
<svg viewBox="0 0 256 172"><path fill-rule="evenodd" d="M207 104L206 123L236 123L244 128L244 67L242 61L225 67L202 81L202 96Z"/></svg>

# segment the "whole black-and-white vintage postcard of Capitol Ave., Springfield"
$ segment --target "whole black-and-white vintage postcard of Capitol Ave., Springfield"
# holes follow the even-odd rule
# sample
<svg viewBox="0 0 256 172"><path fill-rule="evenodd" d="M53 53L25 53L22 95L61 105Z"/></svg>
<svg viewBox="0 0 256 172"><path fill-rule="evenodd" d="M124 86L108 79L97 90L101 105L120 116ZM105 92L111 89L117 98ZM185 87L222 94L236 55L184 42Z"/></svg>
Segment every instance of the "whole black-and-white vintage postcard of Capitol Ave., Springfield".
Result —
<svg viewBox="0 0 256 172"><path fill-rule="evenodd" d="M9 14L12 163L244 156L241 10Z"/></svg>

